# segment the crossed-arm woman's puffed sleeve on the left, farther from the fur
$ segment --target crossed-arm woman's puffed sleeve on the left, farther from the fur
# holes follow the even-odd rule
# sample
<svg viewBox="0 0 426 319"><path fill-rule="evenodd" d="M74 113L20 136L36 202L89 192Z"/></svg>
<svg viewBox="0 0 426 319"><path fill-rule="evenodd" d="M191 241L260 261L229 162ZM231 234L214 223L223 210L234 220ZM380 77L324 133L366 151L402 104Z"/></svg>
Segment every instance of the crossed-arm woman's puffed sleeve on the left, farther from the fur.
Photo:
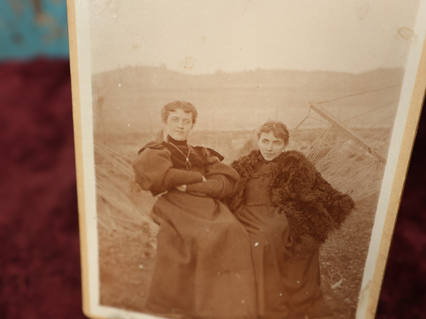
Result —
<svg viewBox="0 0 426 319"><path fill-rule="evenodd" d="M136 182L144 190L158 194L173 186L203 180L200 172L173 168L170 152L162 148L144 148L133 163Z"/></svg>

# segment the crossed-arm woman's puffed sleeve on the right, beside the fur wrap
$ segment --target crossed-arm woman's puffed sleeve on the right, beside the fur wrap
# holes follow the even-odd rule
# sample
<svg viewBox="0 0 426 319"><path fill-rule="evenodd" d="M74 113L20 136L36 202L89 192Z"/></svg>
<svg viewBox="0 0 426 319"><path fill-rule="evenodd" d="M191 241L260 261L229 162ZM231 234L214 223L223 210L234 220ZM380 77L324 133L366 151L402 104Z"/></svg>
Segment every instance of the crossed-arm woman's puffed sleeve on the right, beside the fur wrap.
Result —
<svg viewBox="0 0 426 319"><path fill-rule="evenodd" d="M232 196L239 183L239 175L230 166L223 164L214 152L206 149L207 167L205 178L207 181L187 184L187 192L195 192L212 198Z"/></svg>

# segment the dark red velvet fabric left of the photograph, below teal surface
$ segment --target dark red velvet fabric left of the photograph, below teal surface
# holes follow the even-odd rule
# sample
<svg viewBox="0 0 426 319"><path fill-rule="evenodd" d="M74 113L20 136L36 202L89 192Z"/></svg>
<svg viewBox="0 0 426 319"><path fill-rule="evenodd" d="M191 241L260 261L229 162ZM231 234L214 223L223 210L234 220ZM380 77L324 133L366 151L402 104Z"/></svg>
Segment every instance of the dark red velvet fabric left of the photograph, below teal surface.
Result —
<svg viewBox="0 0 426 319"><path fill-rule="evenodd" d="M85 318L68 61L0 65L0 318Z"/></svg>

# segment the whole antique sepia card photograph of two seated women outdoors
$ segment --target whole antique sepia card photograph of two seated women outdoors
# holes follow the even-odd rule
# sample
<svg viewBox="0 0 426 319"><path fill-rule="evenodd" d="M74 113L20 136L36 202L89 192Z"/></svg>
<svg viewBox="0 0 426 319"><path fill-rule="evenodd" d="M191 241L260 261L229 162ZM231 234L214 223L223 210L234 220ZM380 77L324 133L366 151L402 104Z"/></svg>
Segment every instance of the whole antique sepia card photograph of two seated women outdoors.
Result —
<svg viewBox="0 0 426 319"><path fill-rule="evenodd" d="M86 315L374 316L425 3L68 6Z"/></svg>

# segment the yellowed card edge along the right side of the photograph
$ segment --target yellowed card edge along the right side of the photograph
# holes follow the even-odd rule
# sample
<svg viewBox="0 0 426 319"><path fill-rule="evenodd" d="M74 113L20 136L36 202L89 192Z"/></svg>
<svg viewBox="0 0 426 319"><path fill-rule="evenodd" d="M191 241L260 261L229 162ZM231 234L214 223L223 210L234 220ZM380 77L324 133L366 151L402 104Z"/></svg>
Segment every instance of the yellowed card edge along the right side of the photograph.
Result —
<svg viewBox="0 0 426 319"><path fill-rule="evenodd" d="M389 206L386 212L385 224L380 239L379 254L374 268L373 279L371 280L371 292L368 297L366 319L374 319L380 291L382 288L383 277L385 275L386 264L389 257L389 250L394 234L395 223L400 208L402 193L407 177L409 162L414 146L414 140L417 134L417 128L420 121L420 114L423 108L426 88L426 38L423 42L420 63L417 68L417 75L414 82L414 89L411 96L409 113L404 128L403 140L398 156L397 169L395 172L394 183L391 189Z"/></svg>

